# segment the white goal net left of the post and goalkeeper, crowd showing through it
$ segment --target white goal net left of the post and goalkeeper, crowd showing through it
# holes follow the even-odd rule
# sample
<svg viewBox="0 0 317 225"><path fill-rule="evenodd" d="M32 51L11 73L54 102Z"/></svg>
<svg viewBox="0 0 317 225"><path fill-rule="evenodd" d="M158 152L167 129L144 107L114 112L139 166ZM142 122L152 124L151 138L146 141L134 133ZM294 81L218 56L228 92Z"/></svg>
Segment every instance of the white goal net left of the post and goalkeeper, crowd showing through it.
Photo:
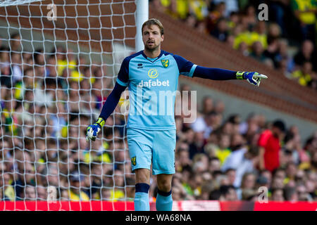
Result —
<svg viewBox="0 0 317 225"><path fill-rule="evenodd" d="M135 51L136 8L0 1L0 210L130 209L125 95L96 141L86 142L85 129Z"/></svg>

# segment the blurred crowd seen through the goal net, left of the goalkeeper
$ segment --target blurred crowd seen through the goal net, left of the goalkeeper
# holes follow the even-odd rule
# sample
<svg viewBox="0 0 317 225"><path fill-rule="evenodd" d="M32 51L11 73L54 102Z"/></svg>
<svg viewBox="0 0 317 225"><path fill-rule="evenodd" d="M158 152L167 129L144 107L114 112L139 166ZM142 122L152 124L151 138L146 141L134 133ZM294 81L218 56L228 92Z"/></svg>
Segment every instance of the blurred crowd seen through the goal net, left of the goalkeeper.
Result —
<svg viewBox="0 0 317 225"><path fill-rule="evenodd" d="M113 133L109 118L106 142L90 146L85 140L113 89L113 75L62 46L45 53L21 46L20 34L0 43L0 199L46 200L48 186L61 200L117 198L114 182L123 187L128 180L113 160L123 164L127 148L113 135L123 133Z"/></svg>

